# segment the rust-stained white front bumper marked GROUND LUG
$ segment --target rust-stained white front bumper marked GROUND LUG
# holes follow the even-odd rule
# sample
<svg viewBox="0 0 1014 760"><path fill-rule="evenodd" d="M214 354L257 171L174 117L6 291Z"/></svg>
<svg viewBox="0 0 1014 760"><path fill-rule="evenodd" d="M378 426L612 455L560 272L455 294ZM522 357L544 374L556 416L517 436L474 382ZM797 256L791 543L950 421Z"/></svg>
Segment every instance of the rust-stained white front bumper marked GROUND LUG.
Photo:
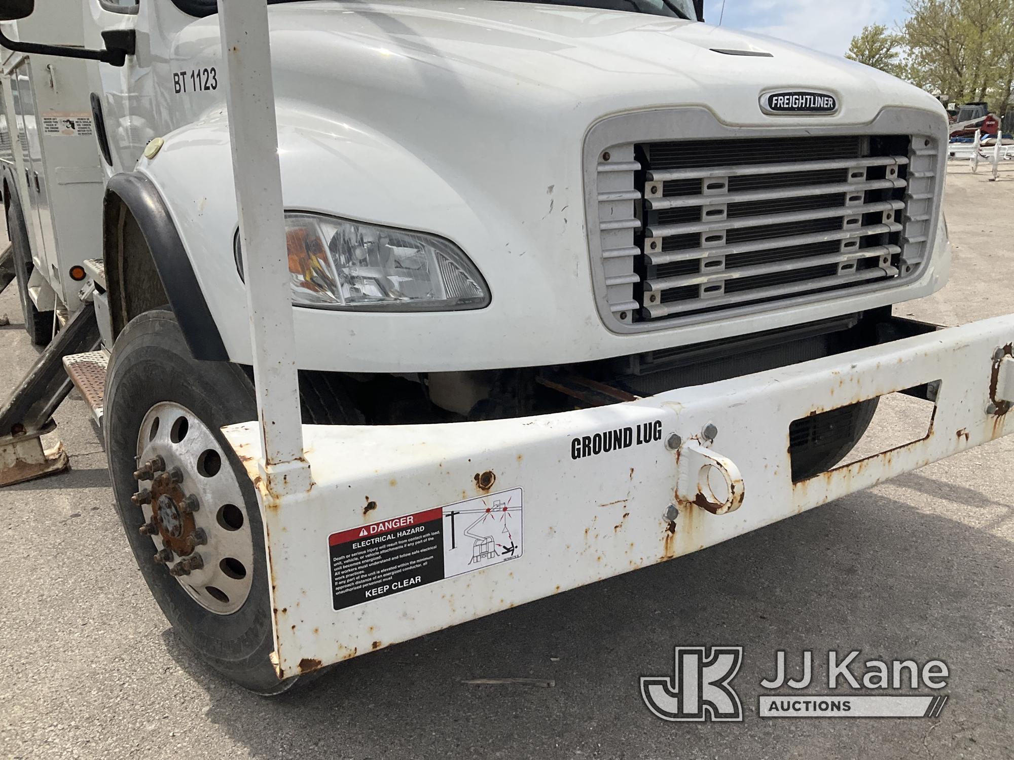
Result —
<svg viewBox="0 0 1014 760"><path fill-rule="evenodd" d="M1012 343L1009 315L592 409L450 425L304 426L314 483L281 502L258 472L257 424L227 428L259 486L279 676L671 559L1012 433L1014 413L1006 411L1014 359L994 358L998 349L1009 357ZM934 381L940 386L926 438L792 482L794 420ZM717 428L710 446L700 440L708 424ZM605 433L610 450L583 456L584 437ZM666 445L671 434L681 441L676 451ZM698 506L708 501L698 485L709 466L731 486L725 514ZM462 513L481 520L484 506L509 510L510 520L473 528ZM404 557L387 561L423 567L443 544L442 580L432 566L393 584L374 575L363 601L351 604L359 592L346 584L339 603L333 585L342 579L333 568L353 565L336 559L329 537L353 531L336 545L359 557L355 572L370 586L370 574L379 573L375 559L348 536L395 536L377 526L405 516L432 520L427 530L436 543L409 537ZM397 524L406 533L411 526L408 518ZM432 535L441 529L442 538ZM462 530L470 530L467 537ZM490 536L499 549L487 553Z"/></svg>

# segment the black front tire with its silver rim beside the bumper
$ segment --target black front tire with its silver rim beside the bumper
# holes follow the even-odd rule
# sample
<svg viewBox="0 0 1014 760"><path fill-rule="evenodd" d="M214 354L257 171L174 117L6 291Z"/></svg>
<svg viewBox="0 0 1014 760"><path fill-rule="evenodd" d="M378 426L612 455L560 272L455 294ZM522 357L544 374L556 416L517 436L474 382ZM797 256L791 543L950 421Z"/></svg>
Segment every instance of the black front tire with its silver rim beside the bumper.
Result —
<svg viewBox="0 0 1014 760"><path fill-rule="evenodd" d="M170 311L141 314L117 338L103 435L138 566L192 651L240 686L277 694L296 679L280 682L269 660L260 508L220 430L256 419L247 376L228 362L195 360Z"/></svg>

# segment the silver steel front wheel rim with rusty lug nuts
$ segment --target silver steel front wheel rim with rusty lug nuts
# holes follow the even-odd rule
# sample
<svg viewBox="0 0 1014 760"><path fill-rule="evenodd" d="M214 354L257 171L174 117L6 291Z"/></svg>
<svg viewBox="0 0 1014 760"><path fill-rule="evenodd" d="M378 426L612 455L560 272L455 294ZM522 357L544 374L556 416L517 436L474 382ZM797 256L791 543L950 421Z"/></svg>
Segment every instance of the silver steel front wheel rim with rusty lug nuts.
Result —
<svg viewBox="0 0 1014 760"><path fill-rule="evenodd" d="M137 454L136 501L144 513L141 530L151 538L155 561L206 610L232 614L242 607L252 586L254 540L227 453L193 411L162 401L141 422ZM149 470L148 463L158 458L164 469ZM190 511L195 498L197 509ZM201 538L204 542L199 542ZM191 539L192 548L180 548Z"/></svg>

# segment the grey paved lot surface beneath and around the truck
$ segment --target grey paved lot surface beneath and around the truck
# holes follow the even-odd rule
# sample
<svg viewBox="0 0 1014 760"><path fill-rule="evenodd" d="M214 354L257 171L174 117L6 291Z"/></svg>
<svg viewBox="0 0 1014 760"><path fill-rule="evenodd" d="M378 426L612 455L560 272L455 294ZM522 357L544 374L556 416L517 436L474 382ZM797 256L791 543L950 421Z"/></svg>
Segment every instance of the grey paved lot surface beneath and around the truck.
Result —
<svg viewBox="0 0 1014 760"><path fill-rule="evenodd" d="M963 163L949 174L952 282L895 312L945 324L1010 312L1014 165L999 182ZM4 313L6 394L37 352L14 287L0 295ZM359 658L267 700L183 649L128 551L76 393L57 420L72 469L0 490L0 756L1012 757L1014 437L663 565ZM742 724L648 712L638 677L670 673L677 643L745 648ZM831 648L944 660L950 701L937 719L756 717L777 650L822 659ZM462 683L508 676L555 686Z"/></svg>

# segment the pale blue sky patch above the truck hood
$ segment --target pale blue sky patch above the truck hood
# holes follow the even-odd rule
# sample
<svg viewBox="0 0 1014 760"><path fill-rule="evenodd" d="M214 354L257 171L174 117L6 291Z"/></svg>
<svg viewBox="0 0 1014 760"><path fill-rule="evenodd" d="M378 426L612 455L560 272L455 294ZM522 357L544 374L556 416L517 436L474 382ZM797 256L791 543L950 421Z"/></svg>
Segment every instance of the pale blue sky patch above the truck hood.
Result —
<svg viewBox="0 0 1014 760"><path fill-rule="evenodd" d="M852 37L872 23L894 24L906 17L904 0L725 0L723 27L789 40L842 56ZM705 0L704 17L718 23L722 0Z"/></svg>

